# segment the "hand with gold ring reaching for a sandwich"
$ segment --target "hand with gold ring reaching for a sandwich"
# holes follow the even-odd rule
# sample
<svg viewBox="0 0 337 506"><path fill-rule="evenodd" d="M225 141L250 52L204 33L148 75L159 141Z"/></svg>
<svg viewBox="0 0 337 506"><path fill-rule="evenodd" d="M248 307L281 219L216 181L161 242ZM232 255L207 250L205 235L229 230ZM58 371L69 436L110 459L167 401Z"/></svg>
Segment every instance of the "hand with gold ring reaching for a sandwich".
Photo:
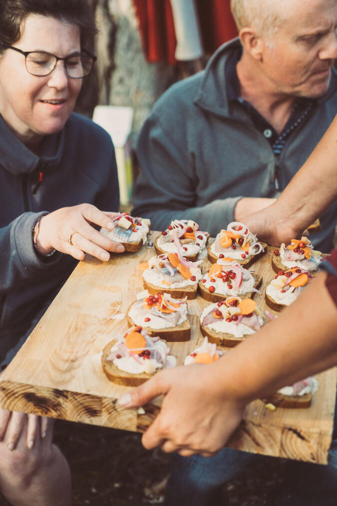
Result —
<svg viewBox="0 0 337 506"><path fill-rule="evenodd" d="M120 253L125 248L119 242L101 234L91 224L112 230L114 225L111 218L114 215L91 204L62 207L41 218L36 247L42 255L57 249L76 260L83 260L85 253L88 253L107 262L110 259L108 251Z"/></svg>

